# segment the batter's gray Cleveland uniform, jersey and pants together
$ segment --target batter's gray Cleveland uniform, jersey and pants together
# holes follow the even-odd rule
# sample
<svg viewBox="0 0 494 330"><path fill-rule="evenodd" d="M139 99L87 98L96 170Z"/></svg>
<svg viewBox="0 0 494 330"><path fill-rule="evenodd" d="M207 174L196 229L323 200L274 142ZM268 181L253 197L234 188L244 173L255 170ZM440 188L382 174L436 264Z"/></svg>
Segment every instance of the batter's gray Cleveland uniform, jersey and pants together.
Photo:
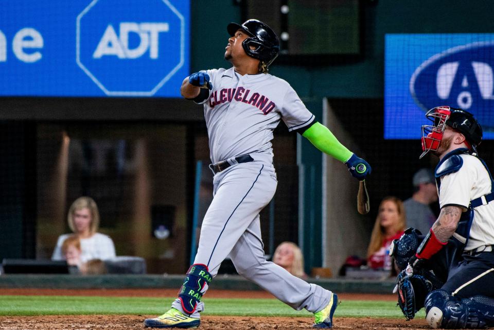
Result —
<svg viewBox="0 0 494 330"><path fill-rule="evenodd" d="M332 292L309 284L268 262L261 240L259 212L276 191L271 140L283 120L290 131L314 123L291 86L270 74L239 75L234 68L207 70L213 90L204 103L211 162L233 166L217 172L214 199L201 228L195 264L215 276L230 256L237 272L271 292L294 309L323 309ZM249 154L254 161L238 164L235 157ZM184 312L180 300L172 307ZM199 318L200 302L190 317ZM187 314L184 312L184 314Z"/></svg>

